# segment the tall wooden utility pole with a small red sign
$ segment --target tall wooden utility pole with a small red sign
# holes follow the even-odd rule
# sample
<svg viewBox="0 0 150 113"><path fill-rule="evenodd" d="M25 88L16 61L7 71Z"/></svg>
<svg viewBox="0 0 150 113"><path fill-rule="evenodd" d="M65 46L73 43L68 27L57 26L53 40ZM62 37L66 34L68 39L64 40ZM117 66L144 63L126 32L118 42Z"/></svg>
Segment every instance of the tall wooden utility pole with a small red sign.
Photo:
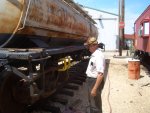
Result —
<svg viewBox="0 0 150 113"><path fill-rule="evenodd" d="M119 56L122 56L124 47L124 0L119 0Z"/></svg>

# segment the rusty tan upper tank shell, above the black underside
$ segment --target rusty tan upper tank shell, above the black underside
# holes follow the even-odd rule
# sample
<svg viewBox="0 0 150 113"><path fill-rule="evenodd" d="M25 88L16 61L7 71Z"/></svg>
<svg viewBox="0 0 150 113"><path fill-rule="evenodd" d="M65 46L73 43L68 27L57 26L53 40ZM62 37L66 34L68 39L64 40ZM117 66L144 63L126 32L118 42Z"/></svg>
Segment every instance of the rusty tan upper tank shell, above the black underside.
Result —
<svg viewBox="0 0 150 113"><path fill-rule="evenodd" d="M16 34L78 40L85 40L89 36L97 37L97 28L92 22L63 0L31 0L26 18L28 3L29 0L1 1L0 28L4 29L0 29L0 33L13 33L21 18L19 28L23 26L26 19L25 27L18 30ZM23 16L20 17L22 11Z"/></svg>

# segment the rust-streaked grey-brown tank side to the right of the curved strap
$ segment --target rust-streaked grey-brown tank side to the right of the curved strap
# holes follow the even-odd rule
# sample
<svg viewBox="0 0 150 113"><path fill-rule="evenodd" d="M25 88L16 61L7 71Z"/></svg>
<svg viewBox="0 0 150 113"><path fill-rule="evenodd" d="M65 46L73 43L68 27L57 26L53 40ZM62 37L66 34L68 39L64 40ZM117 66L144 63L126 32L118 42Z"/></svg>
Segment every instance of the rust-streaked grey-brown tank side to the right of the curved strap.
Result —
<svg viewBox="0 0 150 113"><path fill-rule="evenodd" d="M61 0L32 0L27 26L89 36L88 21Z"/></svg>

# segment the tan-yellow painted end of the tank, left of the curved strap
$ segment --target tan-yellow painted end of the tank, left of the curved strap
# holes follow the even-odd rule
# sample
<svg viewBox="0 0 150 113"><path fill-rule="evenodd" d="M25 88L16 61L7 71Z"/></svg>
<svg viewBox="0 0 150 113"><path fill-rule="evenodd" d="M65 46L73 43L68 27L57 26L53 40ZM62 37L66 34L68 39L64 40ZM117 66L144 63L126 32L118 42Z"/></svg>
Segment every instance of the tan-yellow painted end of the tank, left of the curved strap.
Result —
<svg viewBox="0 0 150 113"><path fill-rule="evenodd" d="M12 33L23 10L23 0L0 1L0 33Z"/></svg>

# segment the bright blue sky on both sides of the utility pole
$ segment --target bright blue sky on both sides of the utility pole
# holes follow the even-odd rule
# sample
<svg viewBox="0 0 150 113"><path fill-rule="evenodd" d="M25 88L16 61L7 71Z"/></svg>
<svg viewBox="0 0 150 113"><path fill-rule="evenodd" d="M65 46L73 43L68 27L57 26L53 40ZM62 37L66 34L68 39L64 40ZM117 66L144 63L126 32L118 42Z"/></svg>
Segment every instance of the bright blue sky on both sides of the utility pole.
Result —
<svg viewBox="0 0 150 113"><path fill-rule="evenodd" d="M74 0L84 6L118 14L119 0ZM133 33L135 20L150 5L150 0L125 0L125 33Z"/></svg>

